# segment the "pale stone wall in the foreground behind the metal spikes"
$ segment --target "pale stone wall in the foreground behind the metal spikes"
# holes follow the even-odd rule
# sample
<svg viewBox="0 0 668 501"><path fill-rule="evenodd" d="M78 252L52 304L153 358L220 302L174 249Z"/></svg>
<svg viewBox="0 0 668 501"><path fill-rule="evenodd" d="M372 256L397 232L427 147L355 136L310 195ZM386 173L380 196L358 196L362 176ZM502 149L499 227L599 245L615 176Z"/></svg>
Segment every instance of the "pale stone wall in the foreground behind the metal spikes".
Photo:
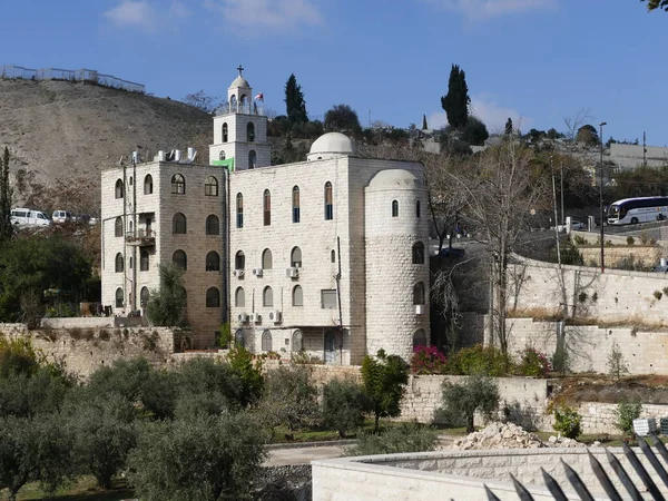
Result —
<svg viewBox="0 0 668 501"><path fill-rule="evenodd" d="M621 449L610 449L636 485L642 485ZM608 499L591 469L591 452L619 492L626 492L606 460L605 449L530 449L499 451L439 451L313 461L313 500L487 500L484 485L501 500L517 500L510 475L524 484L536 500L552 500L540 469L552 475L568 499L570 491L561 460L580 475L595 499ZM648 461L639 456L661 492L667 492Z"/></svg>

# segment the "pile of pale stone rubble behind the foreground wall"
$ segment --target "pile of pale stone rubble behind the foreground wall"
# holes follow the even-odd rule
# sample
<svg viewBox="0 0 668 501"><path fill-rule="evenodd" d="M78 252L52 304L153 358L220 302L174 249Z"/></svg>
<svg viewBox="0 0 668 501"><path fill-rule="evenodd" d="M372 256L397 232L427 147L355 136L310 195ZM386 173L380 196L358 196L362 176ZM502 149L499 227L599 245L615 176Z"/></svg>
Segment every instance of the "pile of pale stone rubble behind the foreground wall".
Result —
<svg viewBox="0 0 668 501"><path fill-rule="evenodd" d="M491 423L479 432L454 441L452 449L466 451L473 449L539 449L578 448L584 444L561 436L550 436L548 443L540 440L522 426L512 423Z"/></svg>

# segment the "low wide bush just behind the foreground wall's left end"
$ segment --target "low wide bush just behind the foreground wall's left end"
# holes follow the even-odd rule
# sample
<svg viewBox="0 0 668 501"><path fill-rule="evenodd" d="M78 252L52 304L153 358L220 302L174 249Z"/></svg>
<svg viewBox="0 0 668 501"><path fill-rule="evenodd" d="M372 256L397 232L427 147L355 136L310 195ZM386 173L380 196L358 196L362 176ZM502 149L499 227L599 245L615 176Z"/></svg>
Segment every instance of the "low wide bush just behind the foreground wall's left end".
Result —
<svg viewBox="0 0 668 501"><path fill-rule="evenodd" d="M438 430L416 423L402 423L381 434L364 433L357 444L346 450L346 455L399 454L426 452L436 448Z"/></svg>

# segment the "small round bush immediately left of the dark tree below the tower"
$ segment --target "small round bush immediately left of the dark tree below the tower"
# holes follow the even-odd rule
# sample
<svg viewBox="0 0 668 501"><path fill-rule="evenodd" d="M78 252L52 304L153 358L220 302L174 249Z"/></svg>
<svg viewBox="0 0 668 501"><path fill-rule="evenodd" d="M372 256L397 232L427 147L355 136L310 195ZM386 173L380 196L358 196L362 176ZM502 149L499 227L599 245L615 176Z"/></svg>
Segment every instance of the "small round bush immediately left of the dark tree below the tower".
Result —
<svg viewBox="0 0 668 501"><path fill-rule="evenodd" d="M324 424L344 438L364 423L366 399L362 385L351 380L333 380L323 386Z"/></svg>

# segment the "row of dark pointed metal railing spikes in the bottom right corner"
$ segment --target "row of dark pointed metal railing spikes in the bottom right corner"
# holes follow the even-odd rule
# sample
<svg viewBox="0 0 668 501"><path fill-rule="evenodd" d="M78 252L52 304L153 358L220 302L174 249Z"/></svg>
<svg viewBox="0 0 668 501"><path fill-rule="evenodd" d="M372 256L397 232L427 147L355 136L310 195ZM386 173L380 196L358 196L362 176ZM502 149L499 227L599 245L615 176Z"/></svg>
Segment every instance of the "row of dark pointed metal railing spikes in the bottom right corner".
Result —
<svg viewBox="0 0 668 501"><path fill-rule="evenodd" d="M655 470L664 485L668 488L668 471L666 470L666 465L668 465L668 451L666 450L666 445L664 445L664 443L655 435L649 435L649 439L652 442L655 450L658 452L658 456L657 454L655 454L655 452L644 439L638 439L638 445L640 446L642 454L645 455L651 468ZM631 480L629 473L625 470L625 468L621 465L620 461L615 456L615 454L606 450L606 459L609 463L610 469L612 470L612 473L617 475L617 479L623 485L626 492L629 495L629 498L626 499L632 499L635 501L642 501L645 499L648 499L640 493L641 491L645 491L651 497L649 499L664 501L664 494L661 494L659 488L651 479L650 473L642 465L633 450L625 443L622 444L622 451L625 458L628 460L631 468L642 482L642 485L636 485ZM606 494L612 501L622 501L625 498L622 498L622 494L620 494L617 488L612 484L612 480L609 473L603 469L601 463L591 454L591 452L588 452L587 454L589 455L589 463L591 465L593 474L603 488ZM584 482L582 482L580 475L571 466L566 464L563 460L561 460L561 464L566 470L566 478L568 479L570 487L572 487L572 489L577 492L580 499L586 501L593 501L593 495L589 492L589 489L587 489L587 485L584 485ZM542 468L541 473L546 487L556 500L566 501L567 499L572 499L566 497L561 485L559 485L559 482L557 482L557 480L554 480L554 478L547 473ZM522 485L520 481L512 477L512 474L510 477L512 479L512 483L514 485L519 499L521 501L533 501L533 497L529 493L529 490L524 485ZM484 489L489 501L500 501L499 498L487 485L484 487Z"/></svg>

